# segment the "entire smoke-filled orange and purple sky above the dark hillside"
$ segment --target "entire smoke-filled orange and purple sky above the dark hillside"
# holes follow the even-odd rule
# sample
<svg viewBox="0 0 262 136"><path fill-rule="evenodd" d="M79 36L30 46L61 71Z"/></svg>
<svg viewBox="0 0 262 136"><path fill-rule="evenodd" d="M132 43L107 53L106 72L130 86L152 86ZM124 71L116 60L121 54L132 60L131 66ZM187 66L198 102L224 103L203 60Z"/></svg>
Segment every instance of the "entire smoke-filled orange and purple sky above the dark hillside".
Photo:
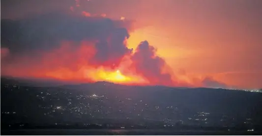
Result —
<svg viewBox="0 0 262 136"><path fill-rule="evenodd" d="M262 88L261 6L261 0L1 0L1 75Z"/></svg>

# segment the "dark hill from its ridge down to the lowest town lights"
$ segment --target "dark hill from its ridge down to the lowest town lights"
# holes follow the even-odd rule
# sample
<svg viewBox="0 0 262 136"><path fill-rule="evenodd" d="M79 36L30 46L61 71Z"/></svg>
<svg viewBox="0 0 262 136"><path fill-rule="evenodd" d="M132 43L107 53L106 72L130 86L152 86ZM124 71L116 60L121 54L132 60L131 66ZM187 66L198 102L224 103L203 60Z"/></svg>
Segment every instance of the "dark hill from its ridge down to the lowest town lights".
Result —
<svg viewBox="0 0 262 136"><path fill-rule="evenodd" d="M36 84L34 81L1 78L1 121L55 124L96 123L98 118L104 120L102 122L107 122L104 118L116 121L132 118L132 121L142 122L173 119L198 124L199 121L191 119L204 120L208 116L209 123L214 125L221 124L221 119L232 122L233 118L233 122L238 123L249 118L257 124L262 122L262 93L158 85L128 86L111 82L53 87L36 87L30 83ZM134 123L138 124L137 121Z"/></svg>

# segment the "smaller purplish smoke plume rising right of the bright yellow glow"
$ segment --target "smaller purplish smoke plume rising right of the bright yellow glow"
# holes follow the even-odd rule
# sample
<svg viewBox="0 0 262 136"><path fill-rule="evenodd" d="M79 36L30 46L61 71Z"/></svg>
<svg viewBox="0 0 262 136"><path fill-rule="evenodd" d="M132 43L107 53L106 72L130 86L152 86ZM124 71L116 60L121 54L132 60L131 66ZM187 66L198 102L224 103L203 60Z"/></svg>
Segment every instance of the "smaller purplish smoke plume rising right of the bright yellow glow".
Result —
<svg viewBox="0 0 262 136"><path fill-rule="evenodd" d="M151 83L173 84L172 75L163 73L163 68L167 65L165 60L155 53L156 49L147 41L141 42L131 57L136 72Z"/></svg>

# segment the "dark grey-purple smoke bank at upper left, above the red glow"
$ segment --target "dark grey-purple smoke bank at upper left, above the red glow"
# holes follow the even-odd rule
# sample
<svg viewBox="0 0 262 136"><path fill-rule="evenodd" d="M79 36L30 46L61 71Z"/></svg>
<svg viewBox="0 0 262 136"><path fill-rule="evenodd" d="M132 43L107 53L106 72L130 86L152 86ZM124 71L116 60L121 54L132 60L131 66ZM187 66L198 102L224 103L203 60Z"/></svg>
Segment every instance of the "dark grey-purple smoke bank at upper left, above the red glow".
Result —
<svg viewBox="0 0 262 136"><path fill-rule="evenodd" d="M10 54L32 54L59 48L61 41L86 40L96 44L97 55L93 59L97 63L114 62L131 52L123 44L131 27L132 21L52 12L20 20L1 20L1 47L8 48Z"/></svg>

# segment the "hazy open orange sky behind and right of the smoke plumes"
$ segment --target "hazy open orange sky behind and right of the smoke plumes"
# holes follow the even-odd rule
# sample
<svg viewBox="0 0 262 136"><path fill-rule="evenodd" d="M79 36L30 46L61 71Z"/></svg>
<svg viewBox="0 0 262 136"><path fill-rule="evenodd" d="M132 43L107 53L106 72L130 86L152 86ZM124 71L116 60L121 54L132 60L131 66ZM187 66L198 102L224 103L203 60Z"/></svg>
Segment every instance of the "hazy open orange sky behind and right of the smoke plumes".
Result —
<svg viewBox="0 0 262 136"><path fill-rule="evenodd" d="M1 19L75 4L75 0L25 0L22 5L18 1L1 1ZM177 77L211 76L240 88L262 88L261 0L79 1L88 13L145 24L130 33L128 47L135 49L147 40Z"/></svg>

